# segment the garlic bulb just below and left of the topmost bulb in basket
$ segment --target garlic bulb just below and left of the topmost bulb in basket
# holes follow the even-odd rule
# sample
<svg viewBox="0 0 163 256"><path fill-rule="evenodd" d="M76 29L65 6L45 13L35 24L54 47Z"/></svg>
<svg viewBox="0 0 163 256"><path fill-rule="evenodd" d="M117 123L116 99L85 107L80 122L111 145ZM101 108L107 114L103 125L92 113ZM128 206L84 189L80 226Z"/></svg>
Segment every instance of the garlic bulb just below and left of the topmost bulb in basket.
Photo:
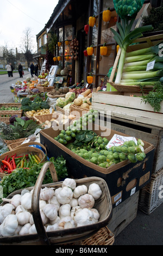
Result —
<svg viewBox="0 0 163 256"><path fill-rule="evenodd" d="M73 192L70 187L62 187L56 197L60 204L68 204L73 197Z"/></svg>

